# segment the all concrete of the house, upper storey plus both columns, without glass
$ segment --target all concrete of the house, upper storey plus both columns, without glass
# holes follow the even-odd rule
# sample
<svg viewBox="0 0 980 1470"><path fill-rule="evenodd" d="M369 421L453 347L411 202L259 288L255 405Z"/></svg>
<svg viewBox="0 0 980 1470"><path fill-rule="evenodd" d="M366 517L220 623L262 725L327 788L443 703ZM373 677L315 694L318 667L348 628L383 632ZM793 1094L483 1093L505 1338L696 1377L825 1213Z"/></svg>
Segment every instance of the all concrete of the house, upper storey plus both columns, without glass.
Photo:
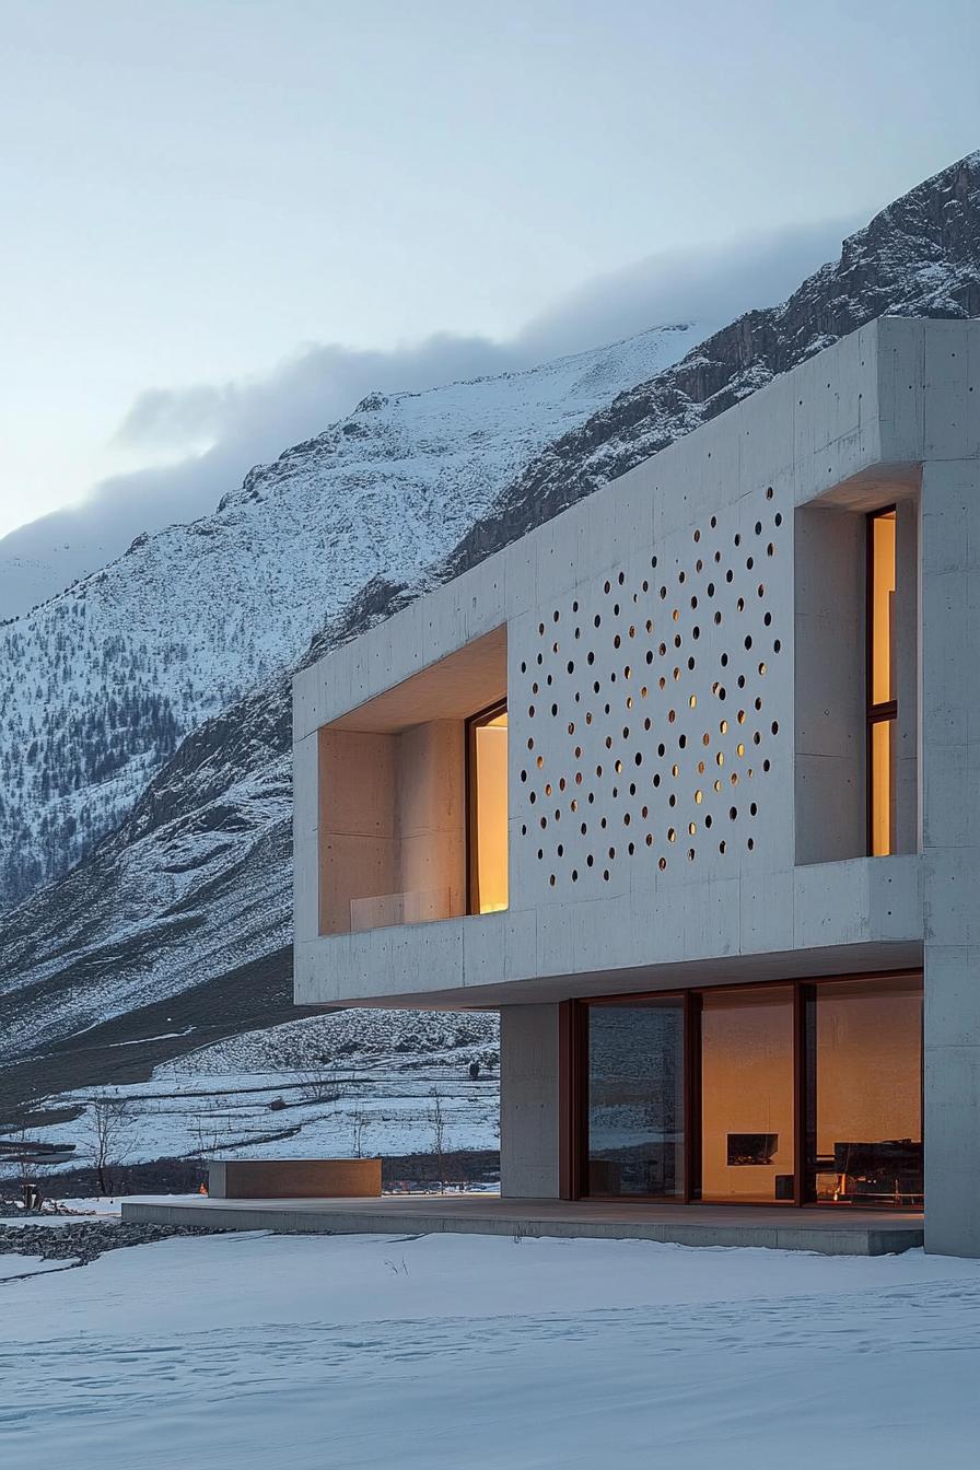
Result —
<svg viewBox="0 0 980 1470"><path fill-rule="evenodd" d="M926 1238L980 1254L979 400L980 325L876 322L297 676L295 998L500 1008L507 1195L558 1189L557 1003L924 967ZM870 858L864 517L892 504ZM463 720L502 694L508 908L470 916ZM436 729L398 795L391 753Z"/></svg>

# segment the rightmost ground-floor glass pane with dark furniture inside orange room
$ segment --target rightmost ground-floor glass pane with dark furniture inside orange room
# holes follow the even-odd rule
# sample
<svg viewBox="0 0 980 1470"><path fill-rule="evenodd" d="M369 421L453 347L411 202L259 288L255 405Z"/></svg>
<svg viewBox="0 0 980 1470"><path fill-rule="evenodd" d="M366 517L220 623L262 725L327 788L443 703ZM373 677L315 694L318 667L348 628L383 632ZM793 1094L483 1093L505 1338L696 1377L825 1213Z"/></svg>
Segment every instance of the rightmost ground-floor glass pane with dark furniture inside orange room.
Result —
<svg viewBox="0 0 980 1470"><path fill-rule="evenodd" d="M923 988L840 980L807 998L807 1197L923 1202Z"/></svg>

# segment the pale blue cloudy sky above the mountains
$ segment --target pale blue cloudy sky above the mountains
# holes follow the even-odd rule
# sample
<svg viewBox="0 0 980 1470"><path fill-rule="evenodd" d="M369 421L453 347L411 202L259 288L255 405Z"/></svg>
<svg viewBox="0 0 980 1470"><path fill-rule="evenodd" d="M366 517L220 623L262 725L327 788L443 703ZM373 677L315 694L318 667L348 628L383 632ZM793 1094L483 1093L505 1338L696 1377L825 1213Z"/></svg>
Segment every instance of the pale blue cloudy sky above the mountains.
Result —
<svg viewBox="0 0 980 1470"><path fill-rule="evenodd" d="M0 0L0 535L768 304L980 147L979 54L976 0Z"/></svg>

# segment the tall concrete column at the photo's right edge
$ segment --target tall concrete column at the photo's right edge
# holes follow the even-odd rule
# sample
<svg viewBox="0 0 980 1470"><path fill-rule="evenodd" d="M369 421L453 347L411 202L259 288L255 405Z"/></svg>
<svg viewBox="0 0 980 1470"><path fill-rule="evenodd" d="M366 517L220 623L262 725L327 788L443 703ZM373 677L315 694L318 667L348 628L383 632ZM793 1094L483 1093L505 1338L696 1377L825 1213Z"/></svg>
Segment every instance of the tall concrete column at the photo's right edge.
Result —
<svg viewBox="0 0 980 1470"><path fill-rule="evenodd" d="M980 1255L980 462L923 469L926 1248Z"/></svg>

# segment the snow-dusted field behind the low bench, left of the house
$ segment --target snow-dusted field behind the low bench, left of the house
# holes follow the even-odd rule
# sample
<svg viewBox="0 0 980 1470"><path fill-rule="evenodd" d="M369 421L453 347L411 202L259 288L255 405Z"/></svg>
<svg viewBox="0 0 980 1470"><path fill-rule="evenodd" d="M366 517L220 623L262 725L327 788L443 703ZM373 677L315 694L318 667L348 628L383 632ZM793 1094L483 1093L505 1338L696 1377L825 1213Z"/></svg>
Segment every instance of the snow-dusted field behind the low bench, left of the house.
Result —
<svg viewBox="0 0 980 1470"><path fill-rule="evenodd" d="M31 1136L91 1154L97 1108L110 1107L109 1161L297 1158L433 1152L500 1144L495 1014L341 1011L203 1047L147 1082L65 1092L79 1117ZM470 1067L479 1076L470 1078ZM53 1170L57 1173L57 1170Z"/></svg>

